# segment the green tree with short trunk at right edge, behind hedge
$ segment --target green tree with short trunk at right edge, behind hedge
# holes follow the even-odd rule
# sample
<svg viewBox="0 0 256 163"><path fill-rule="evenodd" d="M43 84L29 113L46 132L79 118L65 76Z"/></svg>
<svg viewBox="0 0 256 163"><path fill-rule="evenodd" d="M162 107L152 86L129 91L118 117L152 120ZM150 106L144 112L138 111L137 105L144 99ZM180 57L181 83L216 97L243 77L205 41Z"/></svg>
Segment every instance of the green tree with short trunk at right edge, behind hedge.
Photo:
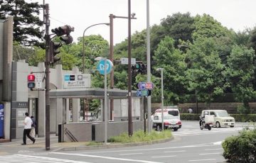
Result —
<svg viewBox="0 0 256 163"><path fill-rule="evenodd" d="M254 60L254 50L243 45L235 45L228 57L228 67L225 71L225 77L236 99L244 104L245 113L250 113L249 102L256 95L252 86L256 68Z"/></svg>

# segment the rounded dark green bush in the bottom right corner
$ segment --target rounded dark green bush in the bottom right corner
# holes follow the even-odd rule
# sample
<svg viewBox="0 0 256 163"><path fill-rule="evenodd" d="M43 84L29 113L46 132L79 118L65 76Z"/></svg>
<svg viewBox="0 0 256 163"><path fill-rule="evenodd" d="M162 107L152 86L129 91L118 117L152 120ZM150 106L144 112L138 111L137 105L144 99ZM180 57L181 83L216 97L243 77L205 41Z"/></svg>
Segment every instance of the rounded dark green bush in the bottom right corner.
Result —
<svg viewBox="0 0 256 163"><path fill-rule="evenodd" d="M229 162L256 162L256 129L244 129L238 136L227 137L222 146L223 157Z"/></svg>

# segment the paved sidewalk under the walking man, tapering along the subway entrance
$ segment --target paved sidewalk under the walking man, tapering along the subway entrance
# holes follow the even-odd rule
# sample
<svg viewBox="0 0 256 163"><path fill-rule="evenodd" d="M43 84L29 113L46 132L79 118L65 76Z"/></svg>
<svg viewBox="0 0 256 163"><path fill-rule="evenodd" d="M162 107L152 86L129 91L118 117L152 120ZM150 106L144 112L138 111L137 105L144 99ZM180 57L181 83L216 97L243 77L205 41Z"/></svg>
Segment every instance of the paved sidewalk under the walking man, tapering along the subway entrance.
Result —
<svg viewBox="0 0 256 163"><path fill-rule="evenodd" d="M166 140L156 140L152 142L136 142L127 144L107 143L103 145L87 146L86 142L58 142L58 136L50 135L50 150L46 150L46 138L36 137L36 142L33 144L31 140L27 138L27 145L21 145L21 139L14 139L11 142L0 143L0 156L7 154L17 153L31 153L31 152L56 152L56 151L75 151L75 150L102 150L107 148L117 147L132 147L138 145L150 145L161 142L168 142L174 139L171 137Z"/></svg>

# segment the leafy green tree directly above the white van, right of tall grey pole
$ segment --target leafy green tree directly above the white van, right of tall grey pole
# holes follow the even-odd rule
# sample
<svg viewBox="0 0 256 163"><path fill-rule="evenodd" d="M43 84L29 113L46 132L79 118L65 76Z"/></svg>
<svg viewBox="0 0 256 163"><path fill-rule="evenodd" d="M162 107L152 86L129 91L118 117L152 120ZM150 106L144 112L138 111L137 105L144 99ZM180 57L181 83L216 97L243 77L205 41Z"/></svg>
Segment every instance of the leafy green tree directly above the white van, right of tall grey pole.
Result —
<svg viewBox="0 0 256 163"><path fill-rule="evenodd" d="M178 103L182 101L185 93L185 55L174 48L174 39L166 36L161 40L153 56L155 69L164 68L164 90L166 103Z"/></svg>

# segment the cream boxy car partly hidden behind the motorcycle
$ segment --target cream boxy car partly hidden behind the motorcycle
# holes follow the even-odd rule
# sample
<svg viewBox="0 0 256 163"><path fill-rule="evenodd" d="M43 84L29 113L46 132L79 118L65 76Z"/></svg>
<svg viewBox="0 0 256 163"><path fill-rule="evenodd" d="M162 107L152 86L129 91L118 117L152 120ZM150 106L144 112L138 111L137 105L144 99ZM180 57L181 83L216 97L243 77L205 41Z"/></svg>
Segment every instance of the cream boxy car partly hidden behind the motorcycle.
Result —
<svg viewBox="0 0 256 163"><path fill-rule="evenodd" d="M228 114L225 110L203 110L201 116L208 115L214 117L213 126L216 128L227 127L233 128L235 126L235 118Z"/></svg>

